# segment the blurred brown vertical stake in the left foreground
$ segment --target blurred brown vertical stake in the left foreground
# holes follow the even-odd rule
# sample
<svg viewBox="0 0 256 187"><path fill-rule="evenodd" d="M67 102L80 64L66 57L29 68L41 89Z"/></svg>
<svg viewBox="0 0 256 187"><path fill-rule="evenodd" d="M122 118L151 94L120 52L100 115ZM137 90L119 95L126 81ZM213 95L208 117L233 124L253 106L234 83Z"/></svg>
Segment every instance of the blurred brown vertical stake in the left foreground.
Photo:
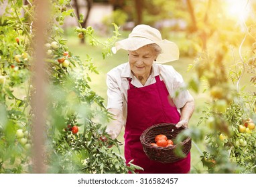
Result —
<svg viewBox="0 0 256 187"><path fill-rule="evenodd" d="M46 65L44 43L46 43L46 27L50 15L49 0L34 1L35 16L34 21L35 37L34 37L34 61L32 65L32 81L36 93L31 98L32 111L35 116L32 126L32 162L33 172L37 174L46 173L44 166L45 160L45 144L44 136L46 126Z"/></svg>

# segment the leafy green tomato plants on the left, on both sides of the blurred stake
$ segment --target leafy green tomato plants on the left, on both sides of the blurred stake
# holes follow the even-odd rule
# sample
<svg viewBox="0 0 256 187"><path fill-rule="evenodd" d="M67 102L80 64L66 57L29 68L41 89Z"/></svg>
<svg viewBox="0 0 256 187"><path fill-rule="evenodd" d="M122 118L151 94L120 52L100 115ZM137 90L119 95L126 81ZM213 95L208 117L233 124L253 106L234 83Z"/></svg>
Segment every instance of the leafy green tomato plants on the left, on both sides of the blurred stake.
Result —
<svg viewBox="0 0 256 187"><path fill-rule="evenodd" d="M34 4L28 1L8 1L0 25L0 172L33 172L31 166L31 134L34 111L31 97L36 89L31 85L32 57L36 27ZM0 5L3 1L0 1ZM82 33L90 45L103 46L103 58L111 55L111 46L119 32L117 25L113 37L101 43L94 37L92 27L82 28L70 1L51 1L52 14L48 21L46 71L48 83L47 137L44 163L50 173L127 173L139 167L127 166L125 159L113 151L119 150L117 140L105 133L105 124L111 119L103 98L90 87L86 72L98 73L90 54L80 59L68 49L63 38L65 17L76 19L78 27L74 35ZM21 15L20 12L24 14ZM79 32L78 32L79 30ZM97 121L97 122L94 122ZM79 127L79 128L78 128ZM100 137L107 142L100 142Z"/></svg>

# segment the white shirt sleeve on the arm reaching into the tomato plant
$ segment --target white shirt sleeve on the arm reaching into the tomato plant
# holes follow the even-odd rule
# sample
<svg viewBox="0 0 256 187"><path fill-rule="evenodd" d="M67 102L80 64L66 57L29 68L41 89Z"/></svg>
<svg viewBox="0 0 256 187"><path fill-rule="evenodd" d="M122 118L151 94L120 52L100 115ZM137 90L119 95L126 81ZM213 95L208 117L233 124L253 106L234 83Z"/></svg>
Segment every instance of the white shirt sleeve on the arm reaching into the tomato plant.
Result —
<svg viewBox="0 0 256 187"><path fill-rule="evenodd" d="M107 108L116 108L123 111L123 98L117 79L111 73L107 73Z"/></svg>

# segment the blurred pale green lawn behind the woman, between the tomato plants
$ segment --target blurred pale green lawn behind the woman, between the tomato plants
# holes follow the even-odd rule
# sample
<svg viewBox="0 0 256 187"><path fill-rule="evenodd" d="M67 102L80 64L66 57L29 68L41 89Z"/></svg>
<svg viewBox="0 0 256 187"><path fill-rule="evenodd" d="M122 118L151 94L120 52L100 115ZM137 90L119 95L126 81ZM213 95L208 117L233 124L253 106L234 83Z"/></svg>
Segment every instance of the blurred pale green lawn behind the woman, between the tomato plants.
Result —
<svg viewBox="0 0 256 187"><path fill-rule="evenodd" d="M117 54L107 57L103 59L101 55L101 47L97 46L90 46L90 45L81 45L80 41L77 37L68 37L67 43L71 52L74 52L75 55L80 56L80 59L86 59L86 55L90 55L93 58L94 65L97 66L97 71L99 74L90 73L90 77L92 82L90 86L96 93L105 99L105 105L107 105L107 85L106 85L106 74L109 70L113 67L121 63L125 63L128 61L128 56L126 51L119 51ZM180 57L178 61L174 61L168 63L172 65L174 69L176 69L183 77L184 81L188 82L195 73L193 71L187 72L188 65L193 63L194 59L190 57ZM247 85L247 81L249 79L249 75L246 74L242 79L241 85ZM203 124L201 126L198 125L198 121L200 117L203 116L202 111L206 106L206 102L210 100L208 98L207 93L203 93L204 86L200 87L200 93L194 93L194 91L190 91L192 96L194 96L196 109L195 112L190 119L189 126L190 127L197 127L197 128L204 128ZM249 87L248 89L251 89ZM124 142L123 139L124 130L122 130L121 134L118 137L118 140ZM123 146L121 146L121 150L123 152ZM192 144L191 150L191 158L192 158L192 168L191 172L201 172L206 173L206 168L202 166L202 162L200 161L200 155L204 150L204 144L202 142L198 142L197 144Z"/></svg>

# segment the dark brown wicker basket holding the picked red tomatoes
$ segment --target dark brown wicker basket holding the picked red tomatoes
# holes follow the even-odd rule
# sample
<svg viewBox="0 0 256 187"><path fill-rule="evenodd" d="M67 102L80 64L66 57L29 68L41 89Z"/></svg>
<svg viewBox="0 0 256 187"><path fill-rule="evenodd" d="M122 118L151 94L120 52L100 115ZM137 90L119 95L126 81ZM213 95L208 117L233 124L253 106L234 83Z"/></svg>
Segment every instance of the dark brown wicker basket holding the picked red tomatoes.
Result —
<svg viewBox="0 0 256 187"><path fill-rule="evenodd" d="M183 126L181 128L176 128L175 124L157 124L147 128L147 130L145 130L140 136L140 141L147 157L150 160L155 160L162 163L176 162L182 159L174 152L174 150L178 145L180 146L180 144L184 154L188 155L191 149L191 138L186 138L186 140L180 144L166 148L150 145L150 143L155 142L155 136L157 136L157 134L164 134L168 139L174 140L176 136L185 129L186 128Z"/></svg>

